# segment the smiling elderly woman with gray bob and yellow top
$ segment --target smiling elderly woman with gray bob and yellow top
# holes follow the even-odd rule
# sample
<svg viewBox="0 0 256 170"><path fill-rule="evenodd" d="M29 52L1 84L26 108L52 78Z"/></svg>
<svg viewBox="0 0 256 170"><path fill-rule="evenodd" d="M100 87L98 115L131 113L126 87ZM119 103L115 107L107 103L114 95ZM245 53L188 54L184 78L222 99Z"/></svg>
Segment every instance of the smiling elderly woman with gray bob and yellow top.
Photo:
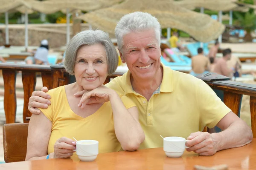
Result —
<svg viewBox="0 0 256 170"><path fill-rule="evenodd" d="M64 66L76 82L49 90L51 105L32 115L26 160L75 158L73 137L99 141L99 153L139 148L145 135L137 107L103 85L117 64L117 52L104 32L87 30L70 40ZM81 90L87 91L87 104L74 95Z"/></svg>

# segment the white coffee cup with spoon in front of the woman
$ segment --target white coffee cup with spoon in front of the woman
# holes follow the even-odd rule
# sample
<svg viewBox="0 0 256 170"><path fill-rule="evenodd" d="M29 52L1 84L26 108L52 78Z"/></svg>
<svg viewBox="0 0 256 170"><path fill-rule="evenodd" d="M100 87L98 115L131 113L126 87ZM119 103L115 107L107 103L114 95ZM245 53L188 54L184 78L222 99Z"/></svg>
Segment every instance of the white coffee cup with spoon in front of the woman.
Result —
<svg viewBox="0 0 256 170"><path fill-rule="evenodd" d="M99 141L81 140L76 142L76 155L81 161L94 161L99 154Z"/></svg>

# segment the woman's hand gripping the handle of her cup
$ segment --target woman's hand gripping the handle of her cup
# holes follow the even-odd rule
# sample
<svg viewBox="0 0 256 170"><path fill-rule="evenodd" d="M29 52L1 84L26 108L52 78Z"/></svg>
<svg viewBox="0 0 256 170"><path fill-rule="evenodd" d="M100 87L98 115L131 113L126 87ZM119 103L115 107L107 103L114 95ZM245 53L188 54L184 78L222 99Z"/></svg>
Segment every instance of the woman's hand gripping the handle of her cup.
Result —
<svg viewBox="0 0 256 170"><path fill-rule="evenodd" d="M69 158L76 151L76 142L70 138L59 138L54 144L53 158Z"/></svg>

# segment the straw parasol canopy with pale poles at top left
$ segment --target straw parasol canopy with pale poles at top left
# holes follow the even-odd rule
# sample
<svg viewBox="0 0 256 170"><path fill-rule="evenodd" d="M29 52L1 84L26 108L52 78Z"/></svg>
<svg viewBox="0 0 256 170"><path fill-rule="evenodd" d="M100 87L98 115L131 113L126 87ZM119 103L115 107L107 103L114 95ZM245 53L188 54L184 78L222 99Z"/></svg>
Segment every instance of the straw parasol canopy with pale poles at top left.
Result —
<svg viewBox="0 0 256 170"><path fill-rule="evenodd" d="M0 12L1 10L6 12L9 10L17 10L21 13L25 13L25 47L28 46L28 14L29 12L38 11L45 14L51 14L61 9L67 9L67 43L70 40L70 21L69 10L81 9L83 11L91 11L95 9L105 8L115 3L119 3L121 0L0 0ZM6 9L6 10L4 10ZM7 19L8 20L8 19ZM7 27L8 28L8 27ZM8 38L9 40L9 38ZM9 41L8 41L9 43Z"/></svg>

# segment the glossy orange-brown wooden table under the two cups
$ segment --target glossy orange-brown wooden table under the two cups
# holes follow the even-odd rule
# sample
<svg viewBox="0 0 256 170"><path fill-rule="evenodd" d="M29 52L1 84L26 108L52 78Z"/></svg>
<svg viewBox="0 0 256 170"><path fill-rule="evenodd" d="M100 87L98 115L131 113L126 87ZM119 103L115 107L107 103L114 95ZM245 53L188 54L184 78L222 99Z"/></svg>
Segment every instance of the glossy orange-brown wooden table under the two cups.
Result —
<svg viewBox="0 0 256 170"><path fill-rule="evenodd" d="M192 170L194 165L227 164L229 170L256 170L256 138L239 148L222 150L214 156L186 152L181 158L166 157L163 148L99 154L93 162L48 159L0 164L0 170Z"/></svg>

